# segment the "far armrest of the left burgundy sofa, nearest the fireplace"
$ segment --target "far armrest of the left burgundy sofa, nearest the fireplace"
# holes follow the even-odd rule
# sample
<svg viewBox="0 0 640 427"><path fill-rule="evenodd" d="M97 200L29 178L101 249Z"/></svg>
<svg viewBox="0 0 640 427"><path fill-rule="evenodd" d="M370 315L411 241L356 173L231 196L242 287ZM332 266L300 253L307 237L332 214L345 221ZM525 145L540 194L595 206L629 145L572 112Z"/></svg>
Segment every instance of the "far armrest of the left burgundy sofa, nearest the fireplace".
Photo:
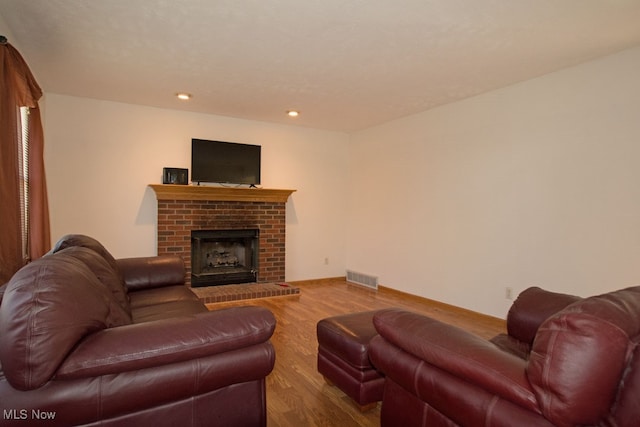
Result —
<svg viewBox="0 0 640 427"><path fill-rule="evenodd" d="M177 255L162 255L116 260L129 291L184 285L184 261Z"/></svg>

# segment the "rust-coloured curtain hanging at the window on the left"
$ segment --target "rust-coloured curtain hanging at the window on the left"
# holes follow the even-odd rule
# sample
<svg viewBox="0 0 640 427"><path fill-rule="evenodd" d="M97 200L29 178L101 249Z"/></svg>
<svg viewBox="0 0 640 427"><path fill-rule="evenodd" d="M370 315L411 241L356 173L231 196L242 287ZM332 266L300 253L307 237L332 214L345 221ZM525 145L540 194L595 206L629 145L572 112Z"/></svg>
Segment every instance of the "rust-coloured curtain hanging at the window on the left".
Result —
<svg viewBox="0 0 640 427"><path fill-rule="evenodd" d="M44 137L38 100L42 90L20 53L0 44L0 285L51 246L44 174ZM29 107L29 236L22 244L20 108Z"/></svg>

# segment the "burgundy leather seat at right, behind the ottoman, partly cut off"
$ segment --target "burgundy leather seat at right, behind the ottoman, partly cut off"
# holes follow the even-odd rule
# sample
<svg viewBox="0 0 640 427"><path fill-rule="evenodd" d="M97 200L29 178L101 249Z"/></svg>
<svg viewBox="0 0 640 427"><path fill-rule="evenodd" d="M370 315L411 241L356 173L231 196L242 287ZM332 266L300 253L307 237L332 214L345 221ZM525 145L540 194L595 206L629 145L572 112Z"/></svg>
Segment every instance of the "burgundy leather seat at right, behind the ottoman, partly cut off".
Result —
<svg viewBox="0 0 640 427"><path fill-rule="evenodd" d="M491 341L398 309L374 325L382 426L640 425L640 287L527 289Z"/></svg>

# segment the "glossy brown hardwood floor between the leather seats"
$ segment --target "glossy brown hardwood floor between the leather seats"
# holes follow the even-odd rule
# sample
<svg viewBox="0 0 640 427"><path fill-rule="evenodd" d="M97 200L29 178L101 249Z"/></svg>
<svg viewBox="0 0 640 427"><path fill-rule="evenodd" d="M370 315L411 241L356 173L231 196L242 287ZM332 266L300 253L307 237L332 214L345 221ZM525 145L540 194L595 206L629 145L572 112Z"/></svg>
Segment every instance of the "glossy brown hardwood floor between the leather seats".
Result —
<svg viewBox="0 0 640 427"><path fill-rule="evenodd" d="M298 296L210 304L211 309L258 305L277 319L272 343L276 365L267 377L267 415L270 427L378 426L380 404L361 413L338 388L325 383L316 369L316 323L330 316L401 307L454 324L485 338L505 331L501 319L391 289L378 291L344 279L293 283Z"/></svg>

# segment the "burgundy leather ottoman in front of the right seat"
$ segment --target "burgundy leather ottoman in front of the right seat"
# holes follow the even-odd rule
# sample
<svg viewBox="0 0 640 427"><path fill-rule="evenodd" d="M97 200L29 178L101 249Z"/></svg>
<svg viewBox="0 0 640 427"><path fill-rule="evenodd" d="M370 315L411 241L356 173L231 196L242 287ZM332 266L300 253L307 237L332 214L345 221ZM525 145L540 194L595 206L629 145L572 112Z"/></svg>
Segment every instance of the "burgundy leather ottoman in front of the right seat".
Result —
<svg viewBox="0 0 640 427"><path fill-rule="evenodd" d="M358 405L372 409L382 400L384 377L369 361L369 341L378 335L376 311L322 319L317 324L318 372Z"/></svg>

